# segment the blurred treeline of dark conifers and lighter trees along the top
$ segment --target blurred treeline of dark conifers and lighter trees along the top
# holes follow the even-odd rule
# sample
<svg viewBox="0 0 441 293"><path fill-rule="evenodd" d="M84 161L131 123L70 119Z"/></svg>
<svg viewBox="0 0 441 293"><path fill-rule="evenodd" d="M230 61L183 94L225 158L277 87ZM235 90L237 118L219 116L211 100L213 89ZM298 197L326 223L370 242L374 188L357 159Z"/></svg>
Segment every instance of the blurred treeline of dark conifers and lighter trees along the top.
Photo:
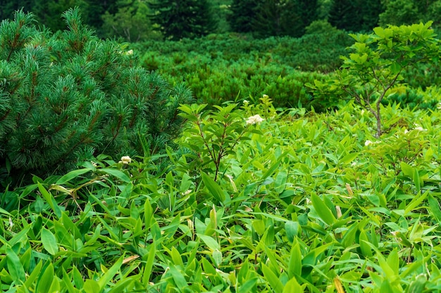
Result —
<svg viewBox="0 0 441 293"><path fill-rule="evenodd" d="M125 41L202 37L237 32L254 38L302 37L312 22L327 21L346 32L368 32L378 25L434 21L441 1L430 0L0 0L0 20L22 9L52 31L78 6L98 37Z"/></svg>

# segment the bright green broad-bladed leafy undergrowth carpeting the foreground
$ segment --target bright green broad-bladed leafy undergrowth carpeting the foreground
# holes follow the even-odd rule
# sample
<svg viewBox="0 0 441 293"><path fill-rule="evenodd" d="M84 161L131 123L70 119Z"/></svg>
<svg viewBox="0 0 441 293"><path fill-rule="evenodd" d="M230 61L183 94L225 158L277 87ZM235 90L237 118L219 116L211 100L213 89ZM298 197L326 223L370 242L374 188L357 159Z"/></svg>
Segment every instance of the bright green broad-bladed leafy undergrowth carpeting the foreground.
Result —
<svg viewBox="0 0 441 293"><path fill-rule="evenodd" d="M183 109L168 166L101 156L1 194L1 290L437 292L440 112L383 108L377 139L351 103L263 102Z"/></svg>

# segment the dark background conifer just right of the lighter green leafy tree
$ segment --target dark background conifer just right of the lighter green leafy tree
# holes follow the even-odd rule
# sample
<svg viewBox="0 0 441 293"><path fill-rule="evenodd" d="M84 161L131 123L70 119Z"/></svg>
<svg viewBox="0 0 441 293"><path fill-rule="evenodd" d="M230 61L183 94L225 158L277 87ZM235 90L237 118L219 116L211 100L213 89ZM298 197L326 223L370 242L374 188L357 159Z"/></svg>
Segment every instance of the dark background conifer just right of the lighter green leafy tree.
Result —
<svg viewBox="0 0 441 293"><path fill-rule="evenodd" d="M149 3L151 19L167 39L201 37L216 29L207 0L161 0Z"/></svg>

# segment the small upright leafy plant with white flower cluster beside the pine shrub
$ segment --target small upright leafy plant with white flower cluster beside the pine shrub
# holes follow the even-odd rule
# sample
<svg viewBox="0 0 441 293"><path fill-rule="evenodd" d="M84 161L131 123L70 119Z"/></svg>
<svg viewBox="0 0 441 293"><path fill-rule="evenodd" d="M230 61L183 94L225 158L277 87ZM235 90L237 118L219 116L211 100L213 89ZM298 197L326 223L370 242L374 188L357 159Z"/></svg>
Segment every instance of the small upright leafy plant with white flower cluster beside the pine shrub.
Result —
<svg viewBox="0 0 441 293"><path fill-rule="evenodd" d="M234 154L235 146L240 141L251 139L251 134L261 134L259 124L263 122L260 115L252 115L244 121L243 110L237 104L225 107L214 106L215 110L205 110L206 105L181 105L182 117L190 122L182 136L181 145L194 153L189 170L201 169L214 174L218 179L223 168L223 158ZM246 116L245 116L246 117Z"/></svg>

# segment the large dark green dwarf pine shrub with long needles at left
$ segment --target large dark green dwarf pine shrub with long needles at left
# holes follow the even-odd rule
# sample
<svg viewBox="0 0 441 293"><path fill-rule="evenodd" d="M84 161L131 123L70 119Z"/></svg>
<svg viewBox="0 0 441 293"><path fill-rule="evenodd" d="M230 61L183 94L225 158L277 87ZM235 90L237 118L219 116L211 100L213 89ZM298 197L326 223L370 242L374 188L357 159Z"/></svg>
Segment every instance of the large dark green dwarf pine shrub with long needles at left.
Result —
<svg viewBox="0 0 441 293"><path fill-rule="evenodd" d="M180 133L177 108L190 89L138 67L125 45L95 37L77 8L63 18L68 29L54 34L23 11L1 22L3 176L64 172L100 153L157 152Z"/></svg>

